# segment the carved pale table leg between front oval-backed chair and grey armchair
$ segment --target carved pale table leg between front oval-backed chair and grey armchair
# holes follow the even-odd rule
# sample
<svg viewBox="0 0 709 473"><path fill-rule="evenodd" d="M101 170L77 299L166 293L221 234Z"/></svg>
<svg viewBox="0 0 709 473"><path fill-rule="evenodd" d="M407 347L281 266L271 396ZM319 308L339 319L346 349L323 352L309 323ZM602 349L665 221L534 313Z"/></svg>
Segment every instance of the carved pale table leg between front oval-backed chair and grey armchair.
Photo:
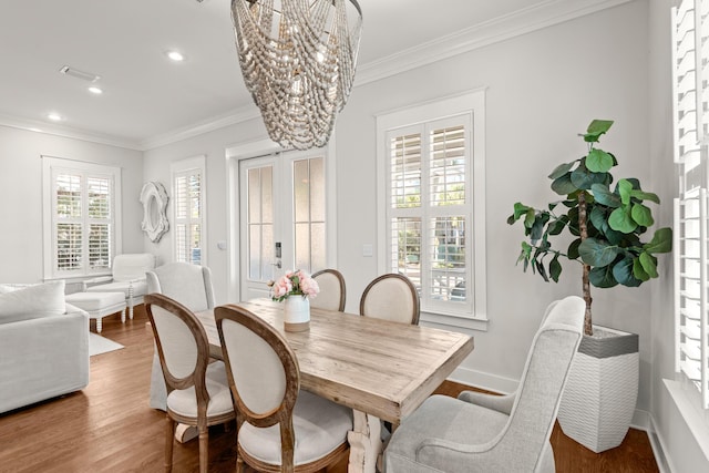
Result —
<svg viewBox="0 0 709 473"><path fill-rule="evenodd" d="M371 414L352 411L354 428L347 434L350 442L350 462L348 472L374 473L377 457L381 452L381 423Z"/></svg>

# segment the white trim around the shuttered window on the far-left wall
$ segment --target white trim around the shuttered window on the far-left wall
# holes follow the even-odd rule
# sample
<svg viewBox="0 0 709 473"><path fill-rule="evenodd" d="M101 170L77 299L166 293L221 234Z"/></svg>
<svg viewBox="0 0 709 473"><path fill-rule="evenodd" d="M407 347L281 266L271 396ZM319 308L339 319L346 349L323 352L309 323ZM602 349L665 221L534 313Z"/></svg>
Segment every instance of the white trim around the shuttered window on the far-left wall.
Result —
<svg viewBox="0 0 709 473"><path fill-rule="evenodd" d="M106 164L90 163L85 161L71 160L65 157L55 157L42 155L42 246L43 246L43 279L83 279L89 276L111 275L113 266L113 257L123 251L123 225L121 212L121 167ZM113 248L111 250L111 261L105 270L88 270L84 268L81 273L68 275L58 274L54 270L54 213L53 213L53 178L52 172L55 168L63 168L79 173L95 173L101 175L111 175L113 177Z"/></svg>

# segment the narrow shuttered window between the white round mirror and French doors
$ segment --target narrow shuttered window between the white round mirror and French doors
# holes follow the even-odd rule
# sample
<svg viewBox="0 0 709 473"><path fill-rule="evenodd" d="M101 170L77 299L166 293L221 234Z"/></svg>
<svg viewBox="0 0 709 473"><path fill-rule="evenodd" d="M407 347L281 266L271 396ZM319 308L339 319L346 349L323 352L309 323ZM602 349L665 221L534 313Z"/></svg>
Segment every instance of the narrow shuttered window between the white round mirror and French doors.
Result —
<svg viewBox="0 0 709 473"><path fill-rule="evenodd" d="M206 265L204 156L172 165L175 261Z"/></svg>

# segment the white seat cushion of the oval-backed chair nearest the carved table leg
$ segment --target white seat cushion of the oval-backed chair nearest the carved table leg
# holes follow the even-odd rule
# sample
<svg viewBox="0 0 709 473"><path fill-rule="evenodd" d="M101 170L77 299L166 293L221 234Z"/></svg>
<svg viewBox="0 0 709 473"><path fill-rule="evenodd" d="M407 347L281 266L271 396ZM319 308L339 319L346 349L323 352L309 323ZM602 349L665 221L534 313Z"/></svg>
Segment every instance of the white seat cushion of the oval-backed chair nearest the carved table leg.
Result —
<svg viewBox="0 0 709 473"><path fill-rule="evenodd" d="M310 463L336 450L352 430L352 410L308 391L300 391L292 414L296 436L294 463ZM247 422L239 429L242 449L261 462L280 464L280 429L266 429Z"/></svg>

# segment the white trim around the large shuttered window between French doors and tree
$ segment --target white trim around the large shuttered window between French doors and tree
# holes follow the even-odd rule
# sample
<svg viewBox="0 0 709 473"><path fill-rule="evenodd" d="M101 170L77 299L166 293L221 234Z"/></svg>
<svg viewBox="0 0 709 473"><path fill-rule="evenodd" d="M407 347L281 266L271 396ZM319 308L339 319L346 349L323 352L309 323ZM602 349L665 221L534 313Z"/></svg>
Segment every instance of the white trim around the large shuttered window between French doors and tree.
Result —
<svg viewBox="0 0 709 473"><path fill-rule="evenodd" d="M421 312L421 320L453 327L486 330L487 288L485 250L485 89L475 89L463 94L449 95L377 115L377 267L379 274L388 271L387 241L387 134L393 128L421 124L453 115L471 114L473 121L472 172L472 248L473 306L472 312L453 311Z"/></svg>

